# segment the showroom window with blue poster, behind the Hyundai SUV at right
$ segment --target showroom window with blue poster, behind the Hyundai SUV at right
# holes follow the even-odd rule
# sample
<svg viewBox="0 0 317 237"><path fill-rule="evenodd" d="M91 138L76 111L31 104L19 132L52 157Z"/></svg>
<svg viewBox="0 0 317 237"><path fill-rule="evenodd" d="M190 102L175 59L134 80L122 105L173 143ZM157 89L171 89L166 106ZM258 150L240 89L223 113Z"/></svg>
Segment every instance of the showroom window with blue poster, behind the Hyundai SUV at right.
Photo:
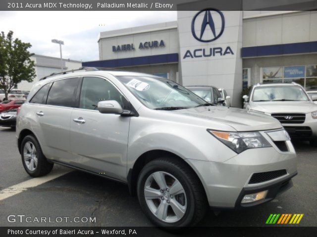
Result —
<svg viewBox="0 0 317 237"><path fill-rule="evenodd" d="M261 82L301 84L305 89L317 89L317 65L262 68Z"/></svg>

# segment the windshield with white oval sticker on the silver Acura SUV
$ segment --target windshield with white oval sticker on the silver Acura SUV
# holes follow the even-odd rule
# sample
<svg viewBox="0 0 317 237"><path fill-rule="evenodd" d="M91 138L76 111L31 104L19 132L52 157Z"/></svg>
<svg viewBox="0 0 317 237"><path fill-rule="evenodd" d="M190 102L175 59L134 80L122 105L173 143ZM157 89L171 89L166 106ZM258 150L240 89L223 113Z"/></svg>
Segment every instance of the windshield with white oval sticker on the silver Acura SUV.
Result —
<svg viewBox="0 0 317 237"><path fill-rule="evenodd" d="M153 77L117 77L145 106L150 109L185 109L206 104L181 85Z"/></svg>

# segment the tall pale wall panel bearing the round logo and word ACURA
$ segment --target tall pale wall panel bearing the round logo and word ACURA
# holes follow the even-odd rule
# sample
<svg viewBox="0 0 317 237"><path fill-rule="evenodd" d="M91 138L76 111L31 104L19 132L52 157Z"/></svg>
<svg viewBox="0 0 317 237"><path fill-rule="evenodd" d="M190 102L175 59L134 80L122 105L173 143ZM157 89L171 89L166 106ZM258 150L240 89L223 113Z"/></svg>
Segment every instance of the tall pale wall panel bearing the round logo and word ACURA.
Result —
<svg viewBox="0 0 317 237"><path fill-rule="evenodd" d="M238 106L242 90L242 11L178 11L180 78L183 85L225 88Z"/></svg>

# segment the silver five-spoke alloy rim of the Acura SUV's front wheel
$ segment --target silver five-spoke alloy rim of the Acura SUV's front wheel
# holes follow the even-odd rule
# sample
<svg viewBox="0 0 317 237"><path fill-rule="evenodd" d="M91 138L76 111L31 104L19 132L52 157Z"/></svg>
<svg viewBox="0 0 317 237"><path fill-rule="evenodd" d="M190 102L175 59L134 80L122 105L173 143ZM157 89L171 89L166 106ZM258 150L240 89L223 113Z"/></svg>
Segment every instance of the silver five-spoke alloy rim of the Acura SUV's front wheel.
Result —
<svg viewBox="0 0 317 237"><path fill-rule="evenodd" d="M157 171L147 178L144 197L151 212L163 222L177 222L186 212L185 190L181 183L167 172Z"/></svg>

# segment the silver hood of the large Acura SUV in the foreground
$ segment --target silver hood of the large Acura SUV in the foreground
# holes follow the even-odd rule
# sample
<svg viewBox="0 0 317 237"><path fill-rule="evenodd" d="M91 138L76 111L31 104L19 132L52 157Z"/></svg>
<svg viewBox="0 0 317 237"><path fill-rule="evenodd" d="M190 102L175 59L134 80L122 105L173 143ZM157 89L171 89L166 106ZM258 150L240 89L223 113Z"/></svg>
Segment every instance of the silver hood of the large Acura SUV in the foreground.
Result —
<svg viewBox="0 0 317 237"><path fill-rule="evenodd" d="M173 113L188 117L201 118L213 122L220 122L233 127L236 131L260 131L281 128L280 122L263 113L246 111L243 109L227 108L223 106L197 107L175 110ZM211 129L217 129L211 127Z"/></svg>

